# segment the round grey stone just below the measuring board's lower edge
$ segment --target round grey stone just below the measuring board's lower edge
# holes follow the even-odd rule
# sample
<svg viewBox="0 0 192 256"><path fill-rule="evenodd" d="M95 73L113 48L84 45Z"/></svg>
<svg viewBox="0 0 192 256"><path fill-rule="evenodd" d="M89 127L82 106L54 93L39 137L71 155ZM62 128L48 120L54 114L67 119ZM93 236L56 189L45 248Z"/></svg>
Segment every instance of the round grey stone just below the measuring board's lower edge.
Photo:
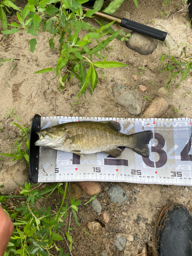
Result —
<svg viewBox="0 0 192 256"><path fill-rule="evenodd" d="M110 189L108 190L108 196L111 202L115 204L121 204L127 200L125 190L118 185L112 185L110 187Z"/></svg>

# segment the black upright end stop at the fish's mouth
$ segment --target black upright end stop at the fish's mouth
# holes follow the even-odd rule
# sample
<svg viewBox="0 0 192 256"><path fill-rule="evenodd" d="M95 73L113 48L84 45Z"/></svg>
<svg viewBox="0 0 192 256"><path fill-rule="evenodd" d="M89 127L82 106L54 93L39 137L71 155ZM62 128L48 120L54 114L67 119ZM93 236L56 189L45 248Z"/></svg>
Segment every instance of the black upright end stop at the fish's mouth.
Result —
<svg viewBox="0 0 192 256"><path fill-rule="evenodd" d="M29 140L29 182L38 182L38 166L39 166L39 146L34 143L38 139L36 132L40 131L40 116L34 115L31 124L31 133Z"/></svg>

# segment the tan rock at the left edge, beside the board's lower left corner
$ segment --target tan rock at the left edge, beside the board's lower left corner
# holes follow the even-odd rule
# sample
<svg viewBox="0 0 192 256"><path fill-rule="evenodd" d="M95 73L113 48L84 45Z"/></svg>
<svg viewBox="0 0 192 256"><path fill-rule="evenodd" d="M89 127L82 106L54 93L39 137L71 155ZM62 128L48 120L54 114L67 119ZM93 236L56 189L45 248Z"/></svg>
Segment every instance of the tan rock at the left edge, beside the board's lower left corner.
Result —
<svg viewBox="0 0 192 256"><path fill-rule="evenodd" d="M3 185L3 187L0 188L0 193L2 195L8 195L18 187L14 181L24 186L25 182L28 182L28 180L29 168L25 163L18 162L15 165L4 168L0 170L0 183Z"/></svg>

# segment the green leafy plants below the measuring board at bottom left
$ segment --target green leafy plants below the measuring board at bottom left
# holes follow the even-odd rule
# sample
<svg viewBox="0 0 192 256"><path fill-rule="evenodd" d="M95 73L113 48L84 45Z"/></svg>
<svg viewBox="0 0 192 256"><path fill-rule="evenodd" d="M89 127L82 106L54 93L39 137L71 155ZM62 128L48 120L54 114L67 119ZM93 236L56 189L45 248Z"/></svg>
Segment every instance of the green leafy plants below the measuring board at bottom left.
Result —
<svg viewBox="0 0 192 256"><path fill-rule="evenodd" d="M65 237L61 227L65 226L65 219L69 211L73 212L75 222L80 227L76 216L77 206L80 201L75 202L75 198L73 198L70 200L69 205L68 201L66 201L68 183L66 183L65 190L62 189L61 185L62 183L57 183L39 191L37 189L39 185L25 183L20 192L22 196L16 196L24 197L25 200L16 209L7 209L15 228L5 253L6 256L54 256L55 254L52 254L53 249L59 251L59 256L62 256L65 252L63 252L62 248L57 247L55 241L62 241L63 238L66 240L66 237L70 242L69 250L72 250L73 239L68 232L66 232ZM58 189L58 194L62 194L62 202L58 211L51 210L50 206L37 209L36 202L41 198L45 198L46 194L52 193L56 188ZM14 196L0 196L0 202L5 202L6 197ZM68 228L68 230L71 229ZM69 253L65 254L65 256L69 256Z"/></svg>

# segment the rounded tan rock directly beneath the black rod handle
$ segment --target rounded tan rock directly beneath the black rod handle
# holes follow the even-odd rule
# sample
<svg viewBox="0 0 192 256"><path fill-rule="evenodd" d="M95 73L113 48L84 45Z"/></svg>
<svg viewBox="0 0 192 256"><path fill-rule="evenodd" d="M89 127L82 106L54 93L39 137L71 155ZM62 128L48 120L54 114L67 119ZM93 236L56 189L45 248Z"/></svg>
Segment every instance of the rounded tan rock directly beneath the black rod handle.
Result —
<svg viewBox="0 0 192 256"><path fill-rule="evenodd" d="M153 53L157 48L157 40L133 31L129 40L125 42L126 47L142 55Z"/></svg>

